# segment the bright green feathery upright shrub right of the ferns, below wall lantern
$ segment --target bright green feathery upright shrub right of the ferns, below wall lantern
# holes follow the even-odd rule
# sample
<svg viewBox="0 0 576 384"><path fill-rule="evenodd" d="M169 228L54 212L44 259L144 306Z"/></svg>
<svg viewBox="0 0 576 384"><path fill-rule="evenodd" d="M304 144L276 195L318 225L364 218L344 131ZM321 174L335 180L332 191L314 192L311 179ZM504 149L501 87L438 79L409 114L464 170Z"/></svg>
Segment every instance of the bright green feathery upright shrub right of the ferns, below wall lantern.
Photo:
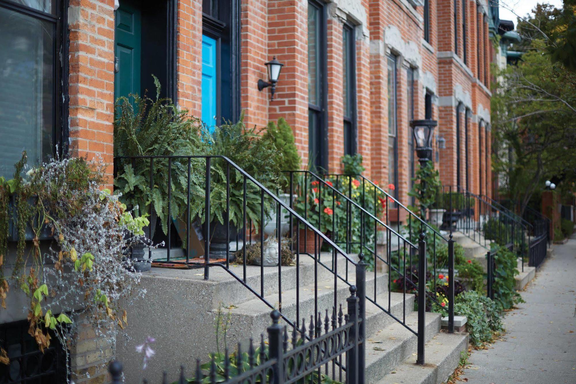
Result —
<svg viewBox="0 0 576 384"><path fill-rule="evenodd" d="M294 141L294 133L284 118L279 118L278 124L272 121L268 123L263 139L275 145L278 151L276 157L279 158L282 172L300 170L301 159ZM281 173L278 183L282 190L286 190L290 185L288 175Z"/></svg>

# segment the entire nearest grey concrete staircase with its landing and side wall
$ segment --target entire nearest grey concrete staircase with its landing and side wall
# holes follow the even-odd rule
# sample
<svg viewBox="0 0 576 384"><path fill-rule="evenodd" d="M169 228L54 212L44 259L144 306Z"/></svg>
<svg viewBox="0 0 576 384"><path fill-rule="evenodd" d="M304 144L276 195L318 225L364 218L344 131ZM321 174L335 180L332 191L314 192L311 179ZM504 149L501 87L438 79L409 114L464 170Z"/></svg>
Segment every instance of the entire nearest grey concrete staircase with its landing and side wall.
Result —
<svg viewBox="0 0 576 384"><path fill-rule="evenodd" d="M321 255L324 262L329 263L329 255ZM300 323L302 318L306 324L310 315L320 312L324 323L325 310L331 317L334 305L334 274L318 266L314 271L313 259L300 257L300 289L299 310ZM346 260L338 258L338 270L344 273ZM242 277L242 266L231 268L237 276ZM295 318L297 289L296 268L282 267L282 313L289 319ZM260 291L260 267L247 266L247 283ZM168 370L169 377L177 374L180 364L192 375L196 358L207 361L207 354L216 351L215 318L218 308L222 308L224 318L229 318L226 332L226 344L230 351L236 348L238 341L243 349L248 348L249 338L254 340L255 347L259 344L260 334L266 336L266 327L270 325L270 307L253 295L249 289L242 286L233 276L221 268L210 268L210 280L203 280L202 269L178 270L153 268L143 273L142 284L147 287L144 299L134 302L128 308L128 319L137 322L137 327L129 327L128 333L132 340L126 344L117 342L116 358L124 362L126 377L137 377L141 374L141 361L135 355L134 348L146 336L156 338L154 349L156 355L146 369L147 377L152 379L150 372ZM354 268L348 263L348 277L354 277ZM314 276L317 278L317 291L314 291ZM278 307L278 267L264 268L264 293L266 300ZM354 283L353 278L349 278ZM388 308L397 318L406 314L406 323L412 329L417 329L417 312L414 311L414 295L387 291L388 275L379 273L374 278L373 273L367 273L367 297L374 299L382 307ZM374 285L376 284L376 291ZM346 298L350 295L348 285L343 281L337 284L336 302L342 304L346 313ZM314 296L317 296L317 306L314 307ZM153 310L152 310L153 308ZM411 383L445 381L458 364L460 351L467 347L467 334L448 334L440 332L441 318L439 314L426 314L426 366L415 365L416 336L403 325L396 322L388 314L369 300L366 300L366 383L390 382L387 377L395 376L394 382L399 382L400 372L414 369L417 375L407 376ZM291 327L289 338L291 339ZM175 344L174 340L178 340ZM220 351L223 352L224 341L219 338ZM244 349L245 351L246 349ZM423 371L429 372L424 377ZM422 371L422 372L421 372ZM392 374L391 372L396 372ZM408 373L407 373L408 374ZM135 376L136 375L136 376ZM338 379L338 378L337 378Z"/></svg>

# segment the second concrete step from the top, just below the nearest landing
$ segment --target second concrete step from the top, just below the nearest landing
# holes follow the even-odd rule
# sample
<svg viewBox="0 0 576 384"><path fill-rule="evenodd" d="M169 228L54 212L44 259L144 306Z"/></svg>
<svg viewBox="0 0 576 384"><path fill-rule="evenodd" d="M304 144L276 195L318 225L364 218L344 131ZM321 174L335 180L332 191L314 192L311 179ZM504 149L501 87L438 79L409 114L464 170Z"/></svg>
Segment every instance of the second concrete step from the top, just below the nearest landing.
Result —
<svg viewBox="0 0 576 384"><path fill-rule="evenodd" d="M350 284L354 284L354 280L352 278L349 278L348 282L350 282ZM381 274L381 276L378 276L376 279L374 279L373 276L366 278L366 291L369 297L373 297L375 282L377 292L376 302L379 304L382 303L382 307L384 307L384 304L386 304L387 309L388 293L385 292L387 292L388 288L388 274ZM338 280L336 289L336 304L338 304L338 306L342 304L342 310L344 314L347 312L346 298L350 296L349 288L350 286L348 284ZM300 311L298 319L296 319L297 293L299 294L298 310ZM318 312L322 314L322 321L324 321L325 310L328 310L328 316L331 317L332 307L334 306L334 280L319 281L316 291L316 307L314 306L314 293L314 284L301 285L298 292L295 288L282 291L282 314L292 322L298 320L300 326L303 318L306 321L306 325L308 325L310 321L310 315L316 315L317 317ZM406 296L407 313L410 313L414 307L414 296ZM391 304L393 304L392 307L393 310L395 310L395 314L399 315L401 313L401 294L396 293L394 298L395 299ZM265 299L275 308L279 307L277 293L265 296ZM386 317L389 318L390 321L393 321L393 319L384 313L384 311L382 311L380 308L377 308L374 306L374 304L369 303L368 300L366 301L366 313L374 316L374 321L386 323L388 322ZM339 308L336 308L336 311L338 311L338 309ZM244 303L236 304L233 308L230 308L230 327L228 329L229 340L244 342L249 337L259 337L260 333L265 331L266 328L270 325L270 311L271 308L258 298L248 300ZM367 323L367 327L370 326L372 325ZM291 327L289 326L289 330L291 330L290 328Z"/></svg>

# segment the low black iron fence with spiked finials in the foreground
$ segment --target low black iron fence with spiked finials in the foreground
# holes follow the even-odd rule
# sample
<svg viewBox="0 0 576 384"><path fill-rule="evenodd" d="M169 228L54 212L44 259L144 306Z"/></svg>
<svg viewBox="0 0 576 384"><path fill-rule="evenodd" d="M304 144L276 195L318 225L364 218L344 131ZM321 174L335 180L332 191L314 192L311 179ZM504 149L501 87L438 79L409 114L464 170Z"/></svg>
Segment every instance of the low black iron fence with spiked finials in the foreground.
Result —
<svg viewBox="0 0 576 384"><path fill-rule="evenodd" d="M358 281L358 284L364 285L366 281ZM217 362L219 356L212 353L209 364L201 366L200 359L196 360L193 378L187 378L185 368L181 366L177 383L364 383L361 356L365 353L365 338L360 329L365 318L359 308L365 307L365 298L357 296L357 287L352 285L346 302L346 315L343 315L342 305L338 314L336 307L332 307L332 317L328 317L326 310L323 324L319 312L317 316L310 316L308 329L304 321L302 327L291 327L291 337L288 335L289 327L279 323L281 314L274 310L270 314L272 325L267 328L268 345L264 342L264 333L260 335L258 350L254 348L252 340L247 349L238 343L233 353L236 357L234 364L230 361L228 348L225 349L223 362ZM244 350L247 351L246 361L243 361ZM204 372L202 367L206 368ZM108 370L112 384L120 384L122 363L112 362ZM130 378L127 381L131 382ZM168 384L166 372L162 384Z"/></svg>

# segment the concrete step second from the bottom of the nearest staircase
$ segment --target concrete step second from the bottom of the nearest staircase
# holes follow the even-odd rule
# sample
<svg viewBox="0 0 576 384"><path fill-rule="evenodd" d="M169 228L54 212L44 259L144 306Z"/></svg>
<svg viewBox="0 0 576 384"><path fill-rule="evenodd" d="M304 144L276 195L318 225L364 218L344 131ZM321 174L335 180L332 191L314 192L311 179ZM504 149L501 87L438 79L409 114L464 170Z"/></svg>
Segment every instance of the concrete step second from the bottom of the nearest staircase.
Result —
<svg viewBox="0 0 576 384"><path fill-rule="evenodd" d="M440 315L426 313L426 340L440 330ZM418 329L418 313L407 314L407 325ZM418 338L398 322L393 322L366 338L366 383L376 383L394 367L416 353ZM377 349L374 349L377 348ZM384 351L381 351L384 349Z"/></svg>

